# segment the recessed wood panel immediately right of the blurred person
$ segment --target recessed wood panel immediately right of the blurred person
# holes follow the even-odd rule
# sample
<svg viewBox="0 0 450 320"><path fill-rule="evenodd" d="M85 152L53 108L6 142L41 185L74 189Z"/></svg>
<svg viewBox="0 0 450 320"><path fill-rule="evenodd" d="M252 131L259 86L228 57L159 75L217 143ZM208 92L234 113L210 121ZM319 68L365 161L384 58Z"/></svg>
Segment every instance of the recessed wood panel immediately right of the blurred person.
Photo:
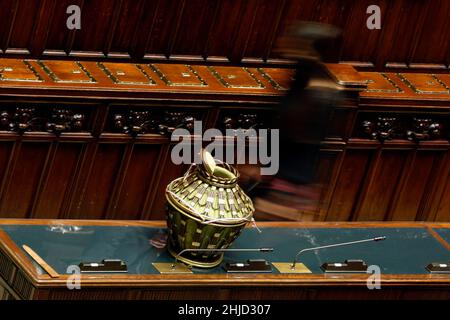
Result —
<svg viewBox="0 0 450 320"><path fill-rule="evenodd" d="M328 221L351 219L355 202L360 196L362 183L366 178L367 165L371 159L370 150L347 150L328 209Z"/></svg>

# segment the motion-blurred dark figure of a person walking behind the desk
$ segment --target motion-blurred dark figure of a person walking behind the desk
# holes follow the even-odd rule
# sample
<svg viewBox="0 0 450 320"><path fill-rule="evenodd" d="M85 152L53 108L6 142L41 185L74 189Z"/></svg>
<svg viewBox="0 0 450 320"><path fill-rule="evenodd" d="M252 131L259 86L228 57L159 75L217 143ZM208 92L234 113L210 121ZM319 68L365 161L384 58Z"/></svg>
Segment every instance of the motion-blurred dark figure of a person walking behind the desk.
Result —
<svg viewBox="0 0 450 320"><path fill-rule="evenodd" d="M295 80L280 105L280 168L276 176L257 177L249 190L260 220L319 220L323 185L315 181L320 143L330 117L342 97L329 79L323 61L333 61L340 40L338 28L315 22L298 22L279 39L283 56L297 61Z"/></svg>

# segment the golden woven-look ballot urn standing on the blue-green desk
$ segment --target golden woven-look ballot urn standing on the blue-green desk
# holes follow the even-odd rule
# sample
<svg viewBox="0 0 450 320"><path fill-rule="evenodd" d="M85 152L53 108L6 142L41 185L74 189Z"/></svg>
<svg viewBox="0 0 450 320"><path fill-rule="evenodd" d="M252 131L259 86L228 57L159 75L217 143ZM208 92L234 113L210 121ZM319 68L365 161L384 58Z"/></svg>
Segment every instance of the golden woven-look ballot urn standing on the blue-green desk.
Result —
<svg viewBox="0 0 450 320"><path fill-rule="evenodd" d="M201 164L191 165L167 186L168 249L188 265L212 268L223 259L218 249L233 243L255 209L238 185L234 167L218 163L206 150L201 158Z"/></svg>

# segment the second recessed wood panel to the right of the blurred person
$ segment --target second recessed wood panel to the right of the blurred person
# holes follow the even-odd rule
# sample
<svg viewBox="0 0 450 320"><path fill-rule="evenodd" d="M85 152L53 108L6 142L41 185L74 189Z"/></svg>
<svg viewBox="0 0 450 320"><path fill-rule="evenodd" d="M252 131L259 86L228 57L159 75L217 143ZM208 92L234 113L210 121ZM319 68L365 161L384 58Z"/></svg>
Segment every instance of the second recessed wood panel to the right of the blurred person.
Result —
<svg viewBox="0 0 450 320"><path fill-rule="evenodd" d="M355 212L358 221L384 220L391 206L402 175L408 151L383 150L367 179L367 189L361 196L359 210Z"/></svg>

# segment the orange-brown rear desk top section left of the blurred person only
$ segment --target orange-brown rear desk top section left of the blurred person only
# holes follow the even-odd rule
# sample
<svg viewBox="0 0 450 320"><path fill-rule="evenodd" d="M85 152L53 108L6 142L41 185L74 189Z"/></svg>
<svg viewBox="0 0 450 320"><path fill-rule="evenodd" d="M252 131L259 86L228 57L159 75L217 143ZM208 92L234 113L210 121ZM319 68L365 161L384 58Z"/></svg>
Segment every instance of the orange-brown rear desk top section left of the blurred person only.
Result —
<svg viewBox="0 0 450 320"><path fill-rule="evenodd" d="M194 95L200 90L214 98L218 92L262 93L277 98L285 93L280 86L289 83L292 73L280 68L0 59L0 87L19 84L22 90L33 90L40 84L56 91L90 89L91 95L126 92L128 98L144 92Z"/></svg>

